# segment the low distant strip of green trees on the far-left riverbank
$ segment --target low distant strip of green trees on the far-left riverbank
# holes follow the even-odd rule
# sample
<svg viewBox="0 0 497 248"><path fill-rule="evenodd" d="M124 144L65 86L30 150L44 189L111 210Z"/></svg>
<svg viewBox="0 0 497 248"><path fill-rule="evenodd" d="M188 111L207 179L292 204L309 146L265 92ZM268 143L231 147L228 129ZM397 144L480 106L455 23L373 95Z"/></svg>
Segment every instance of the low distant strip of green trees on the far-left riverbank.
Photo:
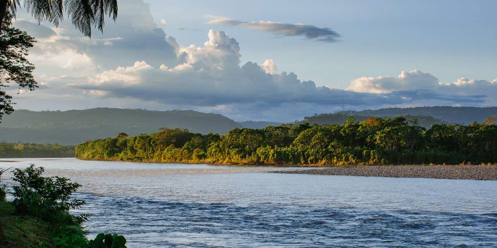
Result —
<svg viewBox="0 0 497 248"><path fill-rule="evenodd" d="M0 158L73 158L74 145L0 143Z"/></svg>

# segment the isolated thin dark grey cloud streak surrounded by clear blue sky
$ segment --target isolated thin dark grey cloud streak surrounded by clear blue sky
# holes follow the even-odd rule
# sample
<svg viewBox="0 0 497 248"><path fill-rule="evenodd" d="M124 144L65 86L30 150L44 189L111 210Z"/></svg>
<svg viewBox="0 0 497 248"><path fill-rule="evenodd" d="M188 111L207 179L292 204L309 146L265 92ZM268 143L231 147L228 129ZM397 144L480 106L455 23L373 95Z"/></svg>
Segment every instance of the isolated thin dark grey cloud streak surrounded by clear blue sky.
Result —
<svg viewBox="0 0 497 248"><path fill-rule="evenodd" d="M209 24L221 26L241 26L283 36L303 36L309 40L337 42L340 35L331 28L318 28L309 24L282 23L272 21L247 22L228 17L212 17Z"/></svg>

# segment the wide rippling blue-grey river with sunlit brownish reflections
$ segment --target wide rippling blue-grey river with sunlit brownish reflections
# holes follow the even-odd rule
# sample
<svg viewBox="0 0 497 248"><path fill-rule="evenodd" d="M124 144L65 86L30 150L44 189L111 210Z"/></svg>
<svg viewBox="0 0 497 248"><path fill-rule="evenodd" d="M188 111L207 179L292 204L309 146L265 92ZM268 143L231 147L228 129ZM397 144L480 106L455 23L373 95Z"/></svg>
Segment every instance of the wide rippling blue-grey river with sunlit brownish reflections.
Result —
<svg viewBox="0 0 497 248"><path fill-rule="evenodd" d="M129 248L497 247L497 182L274 167L2 159L82 184L85 226ZM294 169L294 168L292 168ZM11 174L4 175L4 179ZM8 183L8 180L7 180Z"/></svg>

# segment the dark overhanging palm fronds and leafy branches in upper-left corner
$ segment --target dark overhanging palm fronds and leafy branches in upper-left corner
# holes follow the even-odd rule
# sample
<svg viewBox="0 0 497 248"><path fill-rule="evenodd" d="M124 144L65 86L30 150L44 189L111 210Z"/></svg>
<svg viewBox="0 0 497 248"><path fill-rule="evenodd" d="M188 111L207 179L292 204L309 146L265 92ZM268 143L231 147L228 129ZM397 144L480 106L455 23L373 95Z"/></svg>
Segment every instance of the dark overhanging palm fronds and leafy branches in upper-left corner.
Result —
<svg viewBox="0 0 497 248"><path fill-rule="evenodd" d="M38 87L32 75L34 65L26 59L35 40L11 27L21 2L38 22L49 21L58 26L66 12L87 37L91 37L93 26L103 32L106 16L114 21L117 18L117 0L0 0L0 89L10 83L16 83L19 90L31 91ZM3 114L14 111L11 100L12 96L0 90L0 120Z"/></svg>

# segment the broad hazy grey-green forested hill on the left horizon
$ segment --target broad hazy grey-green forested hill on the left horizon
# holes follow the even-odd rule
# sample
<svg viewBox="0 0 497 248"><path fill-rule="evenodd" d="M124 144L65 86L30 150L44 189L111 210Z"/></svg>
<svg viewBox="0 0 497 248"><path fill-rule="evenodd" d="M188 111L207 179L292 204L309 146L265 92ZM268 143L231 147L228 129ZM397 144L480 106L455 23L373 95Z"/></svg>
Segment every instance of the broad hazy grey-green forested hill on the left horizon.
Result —
<svg viewBox="0 0 497 248"><path fill-rule="evenodd" d="M241 126L219 114L183 110L16 110L12 115L3 116L0 123L0 142L73 145L91 139L114 137L119 132L129 135L156 132L161 127L187 128L194 133L224 134Z"/></svg>

